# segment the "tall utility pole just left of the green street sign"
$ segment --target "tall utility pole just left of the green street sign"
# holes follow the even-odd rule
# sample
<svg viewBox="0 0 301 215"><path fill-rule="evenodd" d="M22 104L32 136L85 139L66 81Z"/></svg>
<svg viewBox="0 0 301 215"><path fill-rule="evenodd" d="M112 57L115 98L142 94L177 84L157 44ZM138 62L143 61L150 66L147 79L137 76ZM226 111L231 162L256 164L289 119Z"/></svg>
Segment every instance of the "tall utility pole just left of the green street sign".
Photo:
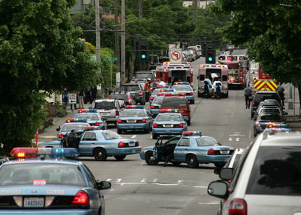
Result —
<svg viewBox="0 0 301 215"><path fill-rule="evenodd" d="M95 0L95 27L96 27L96 62L100 63L100 28L99 28L99 0ZM97 71L99 76L102 76L102 70L99 67L99 71ZM102 85L97 86L97 98L102 97Z"/></svg>

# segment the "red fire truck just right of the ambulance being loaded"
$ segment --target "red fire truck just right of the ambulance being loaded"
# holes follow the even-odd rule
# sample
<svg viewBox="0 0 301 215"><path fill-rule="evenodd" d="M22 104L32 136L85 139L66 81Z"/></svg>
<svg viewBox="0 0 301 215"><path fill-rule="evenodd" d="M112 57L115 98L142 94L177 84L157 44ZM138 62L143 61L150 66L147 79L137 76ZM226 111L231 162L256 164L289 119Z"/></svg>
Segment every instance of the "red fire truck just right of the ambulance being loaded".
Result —
<svg viewBox="0 0 301 215"><path fill-rule="evenodd" d="M218 60L220 64L228 65L229 88L244 89L248 83L248 60L244 55L228 55L225 60Z"/></svg>

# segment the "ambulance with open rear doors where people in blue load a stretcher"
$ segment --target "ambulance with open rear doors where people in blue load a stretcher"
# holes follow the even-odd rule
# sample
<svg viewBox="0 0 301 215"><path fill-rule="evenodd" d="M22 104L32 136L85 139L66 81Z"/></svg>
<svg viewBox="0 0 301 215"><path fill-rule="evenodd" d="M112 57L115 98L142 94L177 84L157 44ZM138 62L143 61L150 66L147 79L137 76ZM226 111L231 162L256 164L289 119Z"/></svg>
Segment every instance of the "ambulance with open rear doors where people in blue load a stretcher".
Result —
<svg viewBox="0 0 301 215"><path fill-rule="evenodd" d="M225 98L228 98L228 80L229 80L229 69L227 65L219 64L200 64L199 75L197 76L197 97L202 97L204 94L204 79L209 76L212 77L212 74L216 74L218 78L221 78L222 82L222 91L221 95ZM212 78L214 79L214 78ZM212 80L214 82L215 80ZM213 95L214 90L209 90L209 95Z"/></svg>

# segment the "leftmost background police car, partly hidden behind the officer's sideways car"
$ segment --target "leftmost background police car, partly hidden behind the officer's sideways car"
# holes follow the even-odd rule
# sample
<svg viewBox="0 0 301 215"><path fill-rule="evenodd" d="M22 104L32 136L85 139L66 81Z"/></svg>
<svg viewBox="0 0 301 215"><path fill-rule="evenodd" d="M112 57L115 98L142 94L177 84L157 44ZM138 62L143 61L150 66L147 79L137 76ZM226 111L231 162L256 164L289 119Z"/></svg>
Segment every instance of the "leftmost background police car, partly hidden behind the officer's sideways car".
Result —
<svg viewBox="0 0 301 215"><path fill-rule="evenodd" d="M64 125L57 128L57 138L62 140L66 134L70 133L71 130L76 130L76 132L83 132L85 127L89 127L90 124L87 123L86 118L66 118Z"/></svg>

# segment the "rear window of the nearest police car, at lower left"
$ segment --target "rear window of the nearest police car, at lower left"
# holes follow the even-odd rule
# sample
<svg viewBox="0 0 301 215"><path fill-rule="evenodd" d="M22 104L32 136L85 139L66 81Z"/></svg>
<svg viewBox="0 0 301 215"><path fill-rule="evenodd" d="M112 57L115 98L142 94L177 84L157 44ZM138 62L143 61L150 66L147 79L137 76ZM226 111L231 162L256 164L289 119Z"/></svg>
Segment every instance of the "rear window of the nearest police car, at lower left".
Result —
<svg viewBox="0 0 301 215"><path fill-rule="evenodd" d="M34 166L34 168L33 168ZM33 186L58 184L87 186L77 165L60 163L19 163L0 168L0 186L31 184Z"/></svg>

